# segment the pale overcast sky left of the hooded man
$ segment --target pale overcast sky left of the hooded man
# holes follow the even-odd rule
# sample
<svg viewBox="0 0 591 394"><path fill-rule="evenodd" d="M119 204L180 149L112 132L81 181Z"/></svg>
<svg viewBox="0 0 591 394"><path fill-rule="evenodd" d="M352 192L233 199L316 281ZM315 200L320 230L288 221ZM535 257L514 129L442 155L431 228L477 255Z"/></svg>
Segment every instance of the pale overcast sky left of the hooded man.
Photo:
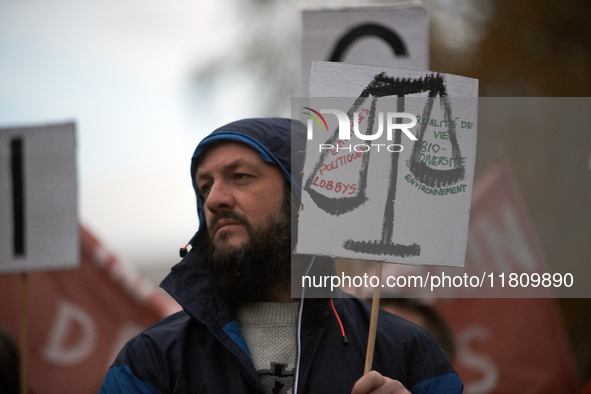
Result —
<svg viewBox="0 0 591 394"><path fill-rule="evenodd" d="M233 119L187 86L231 50L228 2L0 2L0 128L76 123L79 221L134 264L176 262L198 226L190 157Z"/></svg>

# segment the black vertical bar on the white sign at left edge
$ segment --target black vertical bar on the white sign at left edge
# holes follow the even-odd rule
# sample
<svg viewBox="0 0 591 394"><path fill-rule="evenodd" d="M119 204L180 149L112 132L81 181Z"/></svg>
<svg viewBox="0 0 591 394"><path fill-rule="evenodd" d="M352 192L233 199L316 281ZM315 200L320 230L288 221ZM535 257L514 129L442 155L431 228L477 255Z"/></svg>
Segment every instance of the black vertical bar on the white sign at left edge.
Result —
<svg viewBox="0 0 591 394"><path fill-rule="evenodd" d="M10 142L10 170L12 176L13 252L25 255L25 181L24 143L22 138Z"/></svg>

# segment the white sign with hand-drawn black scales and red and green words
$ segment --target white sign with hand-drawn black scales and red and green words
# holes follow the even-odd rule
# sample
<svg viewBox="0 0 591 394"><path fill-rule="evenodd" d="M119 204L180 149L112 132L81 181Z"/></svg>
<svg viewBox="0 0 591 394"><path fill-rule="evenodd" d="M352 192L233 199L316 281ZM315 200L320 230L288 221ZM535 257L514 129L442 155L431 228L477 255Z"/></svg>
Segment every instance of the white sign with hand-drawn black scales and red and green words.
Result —
<svg viewBox="0 0 591 394"><path fill-rule="evenodd" d="M463 266L478 81L315 62L310 86L297 252Z"/></svg>

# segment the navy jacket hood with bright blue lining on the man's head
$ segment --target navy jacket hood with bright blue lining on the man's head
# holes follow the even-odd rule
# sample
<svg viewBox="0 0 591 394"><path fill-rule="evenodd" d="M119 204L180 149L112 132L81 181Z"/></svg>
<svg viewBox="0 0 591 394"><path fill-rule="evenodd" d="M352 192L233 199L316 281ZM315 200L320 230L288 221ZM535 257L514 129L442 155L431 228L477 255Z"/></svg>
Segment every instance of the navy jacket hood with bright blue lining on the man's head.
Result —
<svg viewBox="0 0 591 394"><path fill-rule="evenodd" d="M192 246L195 246L197 236L206 229L203 199L197 193L195 173L203 154L220 141L246 144L257 151L264 161L276 165L291 185L292 199L295 197L299 201L306 146L304 124L287 118L250 118L228 123L205 137L197 145L191 159L191 181L197 196L199 217L199 229L190 241Z"/></svg>

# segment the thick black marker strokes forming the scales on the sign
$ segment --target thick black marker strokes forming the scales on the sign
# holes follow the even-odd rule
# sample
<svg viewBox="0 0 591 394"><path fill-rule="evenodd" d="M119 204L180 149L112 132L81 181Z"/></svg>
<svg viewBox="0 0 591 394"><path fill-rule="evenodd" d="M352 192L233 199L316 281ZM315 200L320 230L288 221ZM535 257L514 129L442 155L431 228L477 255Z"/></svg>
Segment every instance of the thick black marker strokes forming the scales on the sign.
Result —
<svg viewBox="0 0 591 394"><path fill-rule="evenodd" d="M397 112L404 112L404 99L410 94L428 93L427 104L423 110L422 119L429 119L433 109L433 103L436 97L439 97L444 111L445 120L449 127L449 140L452 145L452 155L461 163L461 152L456 137L456 130L453 122L451 122L451 105L447 98L447 91L445 88L445 80L440 74L426 75L422 78L393 78L388 77L385 73L378 74L374 77L371 83L363 90L361 95L355 100L353 106L347 112L349 119L352 119L355 112L361 107L363 102L370 96L371 106L369 110L366 135L371 134L374 126L376 115L376 102L379 97L394 96L398 97ZM397 120L397 122L400 122ZM447 170L433 169L427 166L426 163L419 160L420 146L425 138L427 122L423 121L419 125L417 132L417 141L414 142L413 151L408 161L410 171L420 182L425 183L431 187L441 187L456 183L464 178L465 169L460 164L459 167ZM339 129L331 134L331 137L326 141L326 144L334 144L339 135ZM394 144L401 143L401 131L396 129L394 133ZM304 184L304 190L308 192L314 203L325 212L331 215L341 215L364 204L367 198L367 171L371 150L363 153L362 163L359 170L359 181L357 187L357 195L351 197L327 197L313 189L313 180L316 178L320 166L326 162L326 156L329 151L324 150L318 162L314 166L311 175ZM399 152L392 152L390 164L390 176L388 180L388 192L386 199L386 206L384 210L384 220L382 222L382 236L379 240L374 241L355 241L347 240L343 246L345 249L368 253L374 255L388 255L398 257L418 256L421 252L420 245L413 243L410 245L402 245L392 242L394 232L394 216L395 216L395 201L396 201L396 187L398 179L398 159Z"/></svg>

